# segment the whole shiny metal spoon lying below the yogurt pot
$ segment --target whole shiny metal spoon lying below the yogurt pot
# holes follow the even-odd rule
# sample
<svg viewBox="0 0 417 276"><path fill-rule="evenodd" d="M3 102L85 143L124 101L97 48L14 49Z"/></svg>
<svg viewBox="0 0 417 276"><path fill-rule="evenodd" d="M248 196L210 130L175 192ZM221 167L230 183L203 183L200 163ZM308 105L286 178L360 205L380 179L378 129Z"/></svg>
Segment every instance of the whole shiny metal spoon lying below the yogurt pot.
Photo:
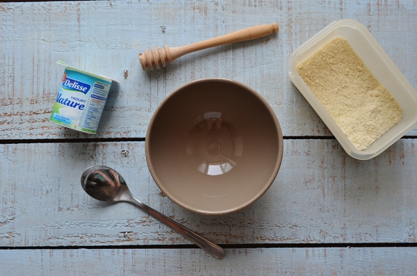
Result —
<svg viewBox="0 0 417 276"><path fill-rule="evenodd" d="M112 168L103 165L95 165L88 168L81 176L81 186L83 186L83 189L88 195L94 197L96 200L105 202L129 202L135 204L150 216L153 216L160 222L171 227L178 234L181 234L192 241L217 259L222 259L224 257L224 250L222 247L211 243L211 241L207 241L190 229L183 227L179 223L174 222L174 220L167 218L146 204L136 200L129 188L127 188L126 181L124 181L123 177Z"/></svg>

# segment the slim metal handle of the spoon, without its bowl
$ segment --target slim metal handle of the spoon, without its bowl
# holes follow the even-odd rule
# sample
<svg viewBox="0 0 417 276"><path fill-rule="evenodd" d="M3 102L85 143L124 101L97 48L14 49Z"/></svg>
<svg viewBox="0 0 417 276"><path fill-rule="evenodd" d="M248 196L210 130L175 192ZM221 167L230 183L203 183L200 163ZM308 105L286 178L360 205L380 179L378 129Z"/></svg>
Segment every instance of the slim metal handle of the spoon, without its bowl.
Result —
<svg viewBox="0 0 417 276"><path fill-rule="evenodd" d="M133 197L133 196L132 196ZM140 202L139 200L136 200L135 197L131 198L129 200L130 203L135 204L140 209L145 211L145 213L148 213L150 216L156 218L163 224L167 225L168 227L171 227L175 232L178 234L181 234L184 238L187 238L189 241L192 241L196 245L198 245L200 248L206 250L208 253L212 254L217 259L223 259L224 257L224 250L219 245L215 245L211 241L206 240L202 236L199 236L195 232L191 231L190 229L183 227L178 222L175 222L174 220L168 218L167 216L164 216L162 213L159 213L158 211L152 209L151 207L147 206L146 204Z"/></svg>

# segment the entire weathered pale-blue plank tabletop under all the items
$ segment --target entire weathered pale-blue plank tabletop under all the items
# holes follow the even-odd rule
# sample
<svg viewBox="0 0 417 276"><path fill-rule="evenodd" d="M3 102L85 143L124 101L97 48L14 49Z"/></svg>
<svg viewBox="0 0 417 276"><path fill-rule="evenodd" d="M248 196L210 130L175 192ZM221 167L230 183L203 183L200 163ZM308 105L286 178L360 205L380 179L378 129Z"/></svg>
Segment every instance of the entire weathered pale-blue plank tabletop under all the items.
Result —
<svg viewBox="0 0 417 276"><path fill-rule="evenodd" d="M375 159L348 156L286 75L288 56L337 19L355 19L417 88L417 1L60 1L0 3L0 275L414 275L417 129ZM258 24L279 33L144 72L138 53ZM64 68L119 82L97 135L49 121ZM128 75L124 78L124 71ZM245 83L272 106L284 159L270 189L227 216L161 194L145 160L158 104L195 79ZM89 197L90 165L222 245L222 260L130 204ZM256 172L254 172L256 173Z"/></svg>

